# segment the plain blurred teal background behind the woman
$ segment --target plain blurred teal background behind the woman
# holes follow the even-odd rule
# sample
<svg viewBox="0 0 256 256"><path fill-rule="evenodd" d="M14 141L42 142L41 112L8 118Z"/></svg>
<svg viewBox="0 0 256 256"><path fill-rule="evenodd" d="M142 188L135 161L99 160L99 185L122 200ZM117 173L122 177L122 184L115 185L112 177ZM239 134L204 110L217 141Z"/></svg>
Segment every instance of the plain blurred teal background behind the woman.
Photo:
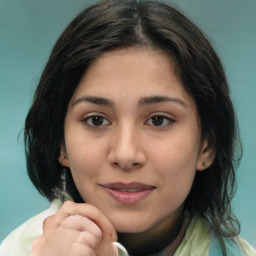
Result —
<svg viewBox="0 0 256 256"><path fill-rule="evenodd" d="M0 242L48 207L26 174L22 131L54 42L82 0L0 0ZM209 36L225 66L238 114L244 156L234 210L241 236L256 247L256 1L173 1Z"/></svg>

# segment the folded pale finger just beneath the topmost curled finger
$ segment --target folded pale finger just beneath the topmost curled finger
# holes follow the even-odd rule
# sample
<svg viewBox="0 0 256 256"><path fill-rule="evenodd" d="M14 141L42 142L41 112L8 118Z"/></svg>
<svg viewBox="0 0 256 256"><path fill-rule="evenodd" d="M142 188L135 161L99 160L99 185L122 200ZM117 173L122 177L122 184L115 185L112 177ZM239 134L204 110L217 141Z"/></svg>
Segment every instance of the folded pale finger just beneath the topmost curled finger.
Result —
<svg viewBox="0 0 256 256"><path fill-rule="evenodd" d="M63 220L61 226L77 231L88 231L93 235L102 238L101 229L90 219L78 214L68 216L65 220Z"/></svg>

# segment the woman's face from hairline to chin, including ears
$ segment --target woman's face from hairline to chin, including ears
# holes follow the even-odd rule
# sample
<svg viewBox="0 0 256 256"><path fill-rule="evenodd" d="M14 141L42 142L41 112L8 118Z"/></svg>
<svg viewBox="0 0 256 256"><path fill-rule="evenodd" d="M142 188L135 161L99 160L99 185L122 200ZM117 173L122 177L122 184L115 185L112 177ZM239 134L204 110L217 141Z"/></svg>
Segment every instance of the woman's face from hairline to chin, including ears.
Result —
<svg viewBox="0 0 256 256"><path fill-rule="evenodd" d="M173 62L136 48L90 65L68 106L62 151L84 201L128 233L175 223L196 170L210 161Z"/></svg>

